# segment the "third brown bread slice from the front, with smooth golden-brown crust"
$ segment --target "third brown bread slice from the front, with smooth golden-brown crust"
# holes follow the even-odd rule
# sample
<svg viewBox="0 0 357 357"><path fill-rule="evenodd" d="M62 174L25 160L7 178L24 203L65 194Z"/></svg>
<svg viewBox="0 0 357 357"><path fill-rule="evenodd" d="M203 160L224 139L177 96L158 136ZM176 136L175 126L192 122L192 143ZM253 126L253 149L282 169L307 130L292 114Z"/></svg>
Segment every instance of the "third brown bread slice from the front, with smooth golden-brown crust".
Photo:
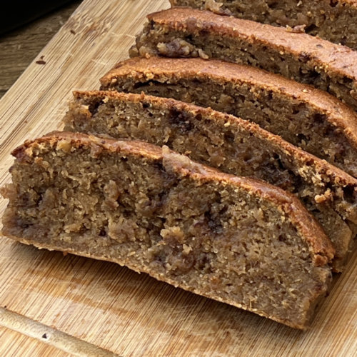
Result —
<svg viewBox="0 0 357 357"><path fill-rule="evenodd" d="M101 78L101 89L144 91L249 119L357 177L357 114L312 86L213 59L137 57Z"/></svg>

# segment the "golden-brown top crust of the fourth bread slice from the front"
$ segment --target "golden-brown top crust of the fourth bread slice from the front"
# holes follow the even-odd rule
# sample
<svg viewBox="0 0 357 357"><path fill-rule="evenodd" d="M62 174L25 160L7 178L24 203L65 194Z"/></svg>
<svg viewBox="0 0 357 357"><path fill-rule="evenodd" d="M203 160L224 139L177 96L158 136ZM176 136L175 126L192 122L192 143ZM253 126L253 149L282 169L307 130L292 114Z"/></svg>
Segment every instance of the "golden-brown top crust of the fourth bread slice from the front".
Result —
<svg viewBox="0 0 357 357"><path fill-rule="evenodd" d="M204 30L223 36L239 35L252 43L268 43L278 51L289 51L295 56L303 56L303 61L310 61L316 66L328 68L328 71L335 72L339 76L357 81L357 51L316 36L185 7L159 11L147 17L149 21L163 26L169 24L176 30Z"/></svg>

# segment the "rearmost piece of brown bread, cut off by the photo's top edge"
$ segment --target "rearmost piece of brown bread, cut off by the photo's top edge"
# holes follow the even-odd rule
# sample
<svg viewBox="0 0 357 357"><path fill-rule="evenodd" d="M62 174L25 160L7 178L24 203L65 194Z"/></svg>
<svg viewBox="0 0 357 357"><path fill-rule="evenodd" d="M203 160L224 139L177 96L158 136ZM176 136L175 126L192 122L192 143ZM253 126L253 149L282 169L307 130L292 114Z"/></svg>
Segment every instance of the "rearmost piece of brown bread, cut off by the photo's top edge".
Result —
<svg viewBox="0 0 357 357"><path fill-rule="evenodd" d="M321 39L357 49L357 2L353 0L170 0L173 6L192 6L216 14L290 26Z"/></svg>

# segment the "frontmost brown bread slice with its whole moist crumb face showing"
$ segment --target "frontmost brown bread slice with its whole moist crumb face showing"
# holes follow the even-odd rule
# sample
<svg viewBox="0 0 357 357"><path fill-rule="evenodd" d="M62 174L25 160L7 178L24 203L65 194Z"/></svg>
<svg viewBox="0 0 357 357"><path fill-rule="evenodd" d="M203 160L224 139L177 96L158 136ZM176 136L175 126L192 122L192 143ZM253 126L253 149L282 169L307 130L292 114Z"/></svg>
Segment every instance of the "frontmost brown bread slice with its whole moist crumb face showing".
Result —
<svg viewBox="0 0 357 357"><path fill-rule="evenodd" d="M54 133L15 149L3 233L114 261L305 328L331 242L293 195L138 141Z"/></svg>

